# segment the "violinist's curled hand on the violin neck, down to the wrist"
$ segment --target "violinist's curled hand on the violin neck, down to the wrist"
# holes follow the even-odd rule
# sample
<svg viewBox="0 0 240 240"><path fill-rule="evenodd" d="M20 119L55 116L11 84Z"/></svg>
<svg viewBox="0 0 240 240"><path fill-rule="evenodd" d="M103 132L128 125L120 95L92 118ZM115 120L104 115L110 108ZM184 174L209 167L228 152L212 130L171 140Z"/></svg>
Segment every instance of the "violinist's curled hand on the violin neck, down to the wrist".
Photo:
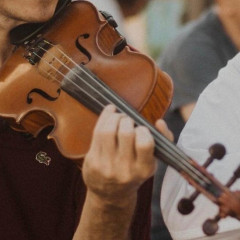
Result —
<svg viewBox="0 0 240 240"><path fill-rule="evenodd" d="M154 174L154 141L143 126L116 112L112 105L100 115L83 163L88 192L114 204L136 196L140 185Z"/></svg>

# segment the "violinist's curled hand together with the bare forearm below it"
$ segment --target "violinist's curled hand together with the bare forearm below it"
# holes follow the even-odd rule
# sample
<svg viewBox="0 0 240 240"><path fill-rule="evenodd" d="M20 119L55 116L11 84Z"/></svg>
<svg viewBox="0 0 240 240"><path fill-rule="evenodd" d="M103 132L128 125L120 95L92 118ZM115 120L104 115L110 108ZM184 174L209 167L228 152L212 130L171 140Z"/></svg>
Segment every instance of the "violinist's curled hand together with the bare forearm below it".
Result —
<svg viewBox="0 0 240 240"><path fill-rule="evenodd" d="M129 240L137 191L155 171L150 131L107 106L82 167L87 196L74 240Z"/></svg>

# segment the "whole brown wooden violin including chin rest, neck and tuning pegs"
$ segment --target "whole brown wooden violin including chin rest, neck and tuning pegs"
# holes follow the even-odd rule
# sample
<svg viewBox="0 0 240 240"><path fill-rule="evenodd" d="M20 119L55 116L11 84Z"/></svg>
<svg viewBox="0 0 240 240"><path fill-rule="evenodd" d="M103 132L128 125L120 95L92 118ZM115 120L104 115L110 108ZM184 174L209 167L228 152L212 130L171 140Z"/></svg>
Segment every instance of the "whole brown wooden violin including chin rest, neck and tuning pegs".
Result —
<svg viewBox="0 0 240 240"><path fill-rule="evenodd" d="M228 215L228 201L236 200L229 187L240 176L240 168L226 186L205 168L221 159L225 148L215 144L204 166L199 166L152 125L167 111L173 94L170 77L153 60L132 47L117 31L117 23L91 3L60 1L52 19L46 23L24 24L12 30L16 46L0 73L0 116L17 131L34 137L52 126L48 139L59 151L76 162L89 149L98 115L108 104L129 115L136 125L144 125L155 140L155 156L178 171L196 192L182 199L178 209L190 213L200 193ZM226 213L225 213L226 215ZM203 225L207 235L216 233L217 222Z"/></svg>

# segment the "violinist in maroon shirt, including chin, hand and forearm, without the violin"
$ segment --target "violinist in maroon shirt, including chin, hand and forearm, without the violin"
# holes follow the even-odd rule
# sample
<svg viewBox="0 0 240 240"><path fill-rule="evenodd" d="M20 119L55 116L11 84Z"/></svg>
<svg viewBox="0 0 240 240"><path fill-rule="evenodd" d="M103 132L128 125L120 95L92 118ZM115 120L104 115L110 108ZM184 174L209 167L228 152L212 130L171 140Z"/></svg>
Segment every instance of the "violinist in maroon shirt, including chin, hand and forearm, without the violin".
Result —
<svg viewBox="0 0 240 240"><path fill-rule="evenodd" d="M0 1L1 69L14 51L11 29L47 21L57 3ZM157 126L171 137L162 121ZM155 171L148 129L107 106L80 170L46 135L44 130L32 138L1 119L1 239L149 239L149 208L136 207L138 189ZM140 197L147 198L144 194L143 189Z"/></svg>

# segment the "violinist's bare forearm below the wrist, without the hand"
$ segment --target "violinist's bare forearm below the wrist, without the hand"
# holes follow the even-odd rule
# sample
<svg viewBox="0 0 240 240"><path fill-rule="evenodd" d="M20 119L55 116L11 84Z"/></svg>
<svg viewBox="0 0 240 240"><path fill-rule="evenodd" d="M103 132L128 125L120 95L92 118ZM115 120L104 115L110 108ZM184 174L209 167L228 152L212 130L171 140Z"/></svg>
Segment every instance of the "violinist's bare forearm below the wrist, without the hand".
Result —
<svg viewBox="0 0 240 240"><path fill-rule="evenodd" d="M88 192L73 240L129 240L135 205L136 195L110 203Z"/></svg>

